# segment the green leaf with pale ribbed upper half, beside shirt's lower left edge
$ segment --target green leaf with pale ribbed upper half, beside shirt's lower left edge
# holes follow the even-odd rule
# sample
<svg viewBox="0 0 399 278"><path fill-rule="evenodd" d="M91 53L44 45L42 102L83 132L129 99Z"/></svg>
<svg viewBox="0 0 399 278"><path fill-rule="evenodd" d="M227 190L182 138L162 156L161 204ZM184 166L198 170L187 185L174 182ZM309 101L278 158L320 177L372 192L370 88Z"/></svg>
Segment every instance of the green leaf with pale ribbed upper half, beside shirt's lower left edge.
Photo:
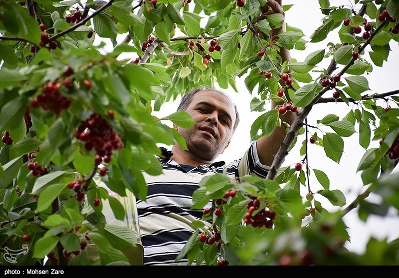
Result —
<svg viewBox="0 0 399 278"><path fill-rule="evenodd" d="M107 224L104 228L104 236L112 247L121 251L135 247L137 243L135 232L126 226Z"/></svg>

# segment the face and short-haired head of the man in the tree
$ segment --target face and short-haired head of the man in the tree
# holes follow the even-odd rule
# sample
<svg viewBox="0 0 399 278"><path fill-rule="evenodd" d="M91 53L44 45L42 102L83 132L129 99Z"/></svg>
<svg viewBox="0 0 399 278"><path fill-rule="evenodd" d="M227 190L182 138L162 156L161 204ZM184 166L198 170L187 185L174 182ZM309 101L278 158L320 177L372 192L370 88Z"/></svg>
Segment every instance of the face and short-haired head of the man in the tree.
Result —
<svg viewBox="0 0 399 278"><path fill-rule="evenodd" d="M194 94L186 112L197 124L189 129L174 128L186 139L190 152L213 161L230 143L235 122L233 104L219 92L204 90Z"/></svg>

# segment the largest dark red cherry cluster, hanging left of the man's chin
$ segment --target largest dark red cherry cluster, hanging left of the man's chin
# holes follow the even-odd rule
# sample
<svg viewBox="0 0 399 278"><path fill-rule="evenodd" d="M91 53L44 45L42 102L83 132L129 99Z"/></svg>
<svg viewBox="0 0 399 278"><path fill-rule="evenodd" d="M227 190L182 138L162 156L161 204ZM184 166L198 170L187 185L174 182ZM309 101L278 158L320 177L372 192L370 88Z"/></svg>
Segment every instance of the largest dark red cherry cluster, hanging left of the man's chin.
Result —
<svg viewBox="0 0 399 278"><path fill-rule="evenodd" d="M108 116L114 117L114 111L109 110ZM85 142L86 150L93 148L96 151L95 166L100 165L102 161L111 162L113 150L121 150L124 144L120 136L112 129L108 122L98 113L93 113L77 128L75 132L76 139ZM107 168L102 167L99 170L101 176L105 176Z"/></svg>

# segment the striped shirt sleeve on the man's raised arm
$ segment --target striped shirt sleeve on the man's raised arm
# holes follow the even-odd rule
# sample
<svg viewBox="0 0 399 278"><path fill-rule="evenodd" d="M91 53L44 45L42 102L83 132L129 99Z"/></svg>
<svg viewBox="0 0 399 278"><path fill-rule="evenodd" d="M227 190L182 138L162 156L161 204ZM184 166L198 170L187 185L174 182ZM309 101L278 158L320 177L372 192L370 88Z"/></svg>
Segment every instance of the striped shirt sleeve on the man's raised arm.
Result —
<svg viewBox="0 0 399 278"><path fill-rule="evenodd" d="M260 163L256 141L253 141L238 163L238 175L240 177L245 175L254 175L266 178L269 170L270 166Z"/></svg>

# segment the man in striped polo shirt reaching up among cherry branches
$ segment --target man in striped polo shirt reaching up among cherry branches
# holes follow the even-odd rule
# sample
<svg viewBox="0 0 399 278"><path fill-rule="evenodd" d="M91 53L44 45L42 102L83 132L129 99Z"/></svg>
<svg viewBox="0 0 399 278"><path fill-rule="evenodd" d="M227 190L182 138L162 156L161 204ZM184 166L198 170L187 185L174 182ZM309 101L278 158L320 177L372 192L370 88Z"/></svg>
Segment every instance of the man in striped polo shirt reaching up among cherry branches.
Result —
<svg viewBox="0 0 399 278"><path fill-rule="evenodd" d="M272 108L276 105L273 102ZM236 106L228 96L213 88L198 88L182 98L178 110L189 113L197 124L189 129L174 125L185 138L188 151L178 144L171 152L164 150L165 158L160 158L164 174L145 175L147 200L137 202L145 265L187 265L187 259L174 261L197 229L191 223L201 220L202 210L191 209L200 180L225 168L231 178L248 174L265 178L285 137L286 126L282 124L269 137L252 142L241 159L225 165L214 160L228 147L239 122ZM292 123L294 117L290 112L282 120Z"/></svg>

